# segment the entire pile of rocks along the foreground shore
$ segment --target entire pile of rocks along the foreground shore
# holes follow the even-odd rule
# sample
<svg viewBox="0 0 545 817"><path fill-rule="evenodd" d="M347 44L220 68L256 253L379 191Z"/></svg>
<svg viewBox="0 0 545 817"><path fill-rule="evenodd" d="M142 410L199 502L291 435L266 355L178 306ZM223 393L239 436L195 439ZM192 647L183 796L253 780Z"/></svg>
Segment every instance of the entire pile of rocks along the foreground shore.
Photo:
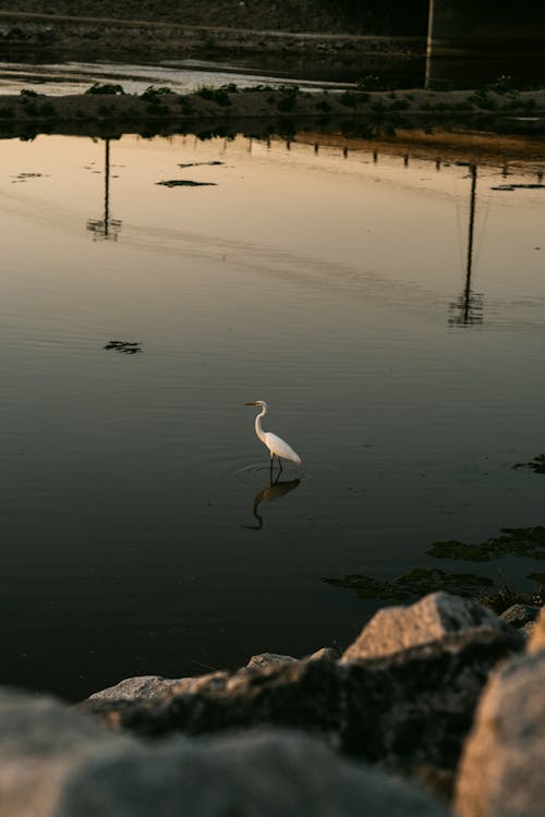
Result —
<svg viewBox="0 0 545 817"><path fill-rule="evenodd" d="M3 690L0 814L537 817L537 613L441 592L384 608L341 656L126 679L75 708Z"/></svg>

